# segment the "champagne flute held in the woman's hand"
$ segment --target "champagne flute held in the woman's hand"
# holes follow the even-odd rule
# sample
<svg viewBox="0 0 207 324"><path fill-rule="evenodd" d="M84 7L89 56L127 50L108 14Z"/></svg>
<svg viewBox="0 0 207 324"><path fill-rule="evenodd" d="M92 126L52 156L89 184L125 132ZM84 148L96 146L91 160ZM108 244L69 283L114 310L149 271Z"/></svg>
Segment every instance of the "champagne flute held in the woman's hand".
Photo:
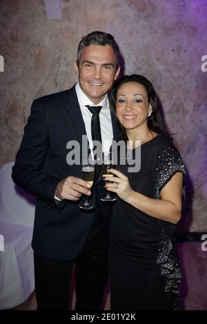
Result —
<svg viewBox="0 0 207 324"><path fill-rule="evenodd" d="M112 152L102 152L102 174L103 176L114 176L109 169L114 168L114 156ZM105 181L105 180L104 180ZM105 181L107 183L110 181ZM116 201L115 197L110 195L110 192L107 191L106 197L101 198L101 201Z"/></svg>

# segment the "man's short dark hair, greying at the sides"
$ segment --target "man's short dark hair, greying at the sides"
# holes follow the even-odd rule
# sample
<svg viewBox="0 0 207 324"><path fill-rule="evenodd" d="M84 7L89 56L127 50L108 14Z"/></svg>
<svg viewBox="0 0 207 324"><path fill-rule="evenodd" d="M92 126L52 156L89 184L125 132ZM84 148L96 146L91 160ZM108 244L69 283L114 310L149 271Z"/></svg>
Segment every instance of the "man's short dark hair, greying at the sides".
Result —
<svg viewBox="0 0 207 324"><path fill-rule="evenodd" d="M107 34L106 32L97 31L90 32L90 34L81 39L77 50L77 65L79 65L80 63L83 48L86 48L89 45L109 45L114 50L117 57L116 68L119 67L119 46L115 41L115 38L111 34Z"/></svg>

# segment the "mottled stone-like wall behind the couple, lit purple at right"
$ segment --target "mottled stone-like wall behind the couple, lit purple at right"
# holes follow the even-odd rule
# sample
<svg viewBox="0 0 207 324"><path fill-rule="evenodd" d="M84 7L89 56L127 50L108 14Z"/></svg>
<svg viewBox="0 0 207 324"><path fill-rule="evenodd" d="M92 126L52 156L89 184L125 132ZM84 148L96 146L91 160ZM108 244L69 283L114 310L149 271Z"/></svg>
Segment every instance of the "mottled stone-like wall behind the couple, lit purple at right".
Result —
<svg viewBox="0 0 207 324"><path fill-rule="evenodd" d="M0 1L0 165L14 160L34 98L69 88L81 36L115 36L125 73L154 83L188 168L182 230L207 231L206 0L68 0L63 19L48 20L43 0Z"/></svg>

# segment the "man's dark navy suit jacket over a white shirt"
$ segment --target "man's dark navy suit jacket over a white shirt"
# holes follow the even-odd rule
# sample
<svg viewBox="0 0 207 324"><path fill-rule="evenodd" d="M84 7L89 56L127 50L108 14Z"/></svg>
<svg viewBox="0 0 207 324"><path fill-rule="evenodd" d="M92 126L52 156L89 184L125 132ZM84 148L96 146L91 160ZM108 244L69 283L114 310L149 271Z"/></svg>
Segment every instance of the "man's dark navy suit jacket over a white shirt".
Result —
<svg viewBox="0 0 207 324"><path fill-rule="evenodd" d="M112 114L114 139L119 130ZM103 180L95 184L91 201L95 210L85 212L79 201L55 202L57 184L67 176L81 178L81 165L68 165L68 141L81 144L86 128L75 92L70 90L34 100L21 146L12 170L14 183L37 197L32 247L50 259L74 259L81 251L94 218L101 237L108 239L111 205L100 201L106 195Z"/></svg>

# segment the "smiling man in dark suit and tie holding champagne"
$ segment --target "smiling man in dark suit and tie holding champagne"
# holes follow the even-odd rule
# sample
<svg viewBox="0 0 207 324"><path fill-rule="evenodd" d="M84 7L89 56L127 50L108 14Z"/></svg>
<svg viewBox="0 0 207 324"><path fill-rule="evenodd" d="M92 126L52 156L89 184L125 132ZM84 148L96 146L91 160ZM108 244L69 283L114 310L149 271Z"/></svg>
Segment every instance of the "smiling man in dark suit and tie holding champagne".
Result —
<svg viewBox="0 0 207 324"><path fill-rule="evenodd" d="M91 106L99 112L102 143L119 140L110 113L108 91L119 75L119 48L105 32L92 32L79 43L75 72L79 82L70 90L34 100L12 179L37 196L32 247L38 310L67 310L70 276L75 263L77 310L99 310L108 279L106 243L110 206L100 201L101 178L90 191L81 179L81 164L68 165L67 143L88 136ZM90 106L89 108L87 106ZM88 195L95 209L79 208Z"/></svg>

